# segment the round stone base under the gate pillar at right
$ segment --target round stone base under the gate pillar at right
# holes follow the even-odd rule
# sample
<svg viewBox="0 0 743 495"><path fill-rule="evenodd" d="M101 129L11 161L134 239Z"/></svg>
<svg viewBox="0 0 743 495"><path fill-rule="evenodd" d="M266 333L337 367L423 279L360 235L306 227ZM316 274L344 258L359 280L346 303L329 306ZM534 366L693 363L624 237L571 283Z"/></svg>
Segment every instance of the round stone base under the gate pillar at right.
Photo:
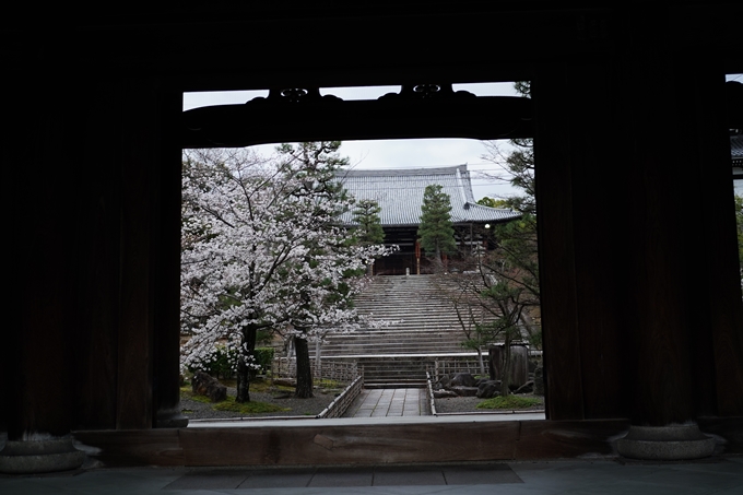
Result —
<svg viewBox="0 0 743 495"><path fill-rule="evenodd" d="M616 440L616 449L630 459L701 459L715 452L715 438L701 433L696 424L630 426L627 436Z"/></svg>

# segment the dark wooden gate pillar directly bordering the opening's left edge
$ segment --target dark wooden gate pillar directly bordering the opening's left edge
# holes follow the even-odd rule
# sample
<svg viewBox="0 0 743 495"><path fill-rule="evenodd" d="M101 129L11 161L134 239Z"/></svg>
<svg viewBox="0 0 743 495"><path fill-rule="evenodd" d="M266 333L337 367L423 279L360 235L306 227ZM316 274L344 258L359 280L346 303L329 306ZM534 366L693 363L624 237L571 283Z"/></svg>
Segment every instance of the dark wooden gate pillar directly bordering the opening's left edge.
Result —
<svg viewBox="0 0 743 495"><path fill-rule="evenodd" d="M157 80L132 81L125 95L116 427L180 427L181 95Z"/></svg>

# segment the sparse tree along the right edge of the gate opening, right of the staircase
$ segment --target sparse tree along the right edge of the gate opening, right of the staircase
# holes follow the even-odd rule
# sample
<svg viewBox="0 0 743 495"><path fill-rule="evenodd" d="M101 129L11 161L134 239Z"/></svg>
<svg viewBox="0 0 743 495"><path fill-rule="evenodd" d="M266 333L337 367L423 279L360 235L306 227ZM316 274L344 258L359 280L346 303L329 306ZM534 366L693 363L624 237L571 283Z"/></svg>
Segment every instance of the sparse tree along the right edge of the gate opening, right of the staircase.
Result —
<svg viewBox="0 0 743 495"><path fill-rule="evenodd" d="M529 83L516 83L515 89L529 97ZM509 393L510 344L527 340L538 349L541 346L541 329L539 321L535 321L540 288L532 140L511 140L510 145L504 152L497 142L486 143L488 154L483 158L503 165L507 173L505 178L490 178L506 179L522 192L497 200L483 198L477 203L508 208L521 216L488 229L488 249L477 254L477 270L460 276L459 292L451 291L449 295L460 306L458 314L461 315L460 325L468 338L465 344L480 346L484 343L503 343L502 361L493 363L499 369L502 394Z"/></svg>

